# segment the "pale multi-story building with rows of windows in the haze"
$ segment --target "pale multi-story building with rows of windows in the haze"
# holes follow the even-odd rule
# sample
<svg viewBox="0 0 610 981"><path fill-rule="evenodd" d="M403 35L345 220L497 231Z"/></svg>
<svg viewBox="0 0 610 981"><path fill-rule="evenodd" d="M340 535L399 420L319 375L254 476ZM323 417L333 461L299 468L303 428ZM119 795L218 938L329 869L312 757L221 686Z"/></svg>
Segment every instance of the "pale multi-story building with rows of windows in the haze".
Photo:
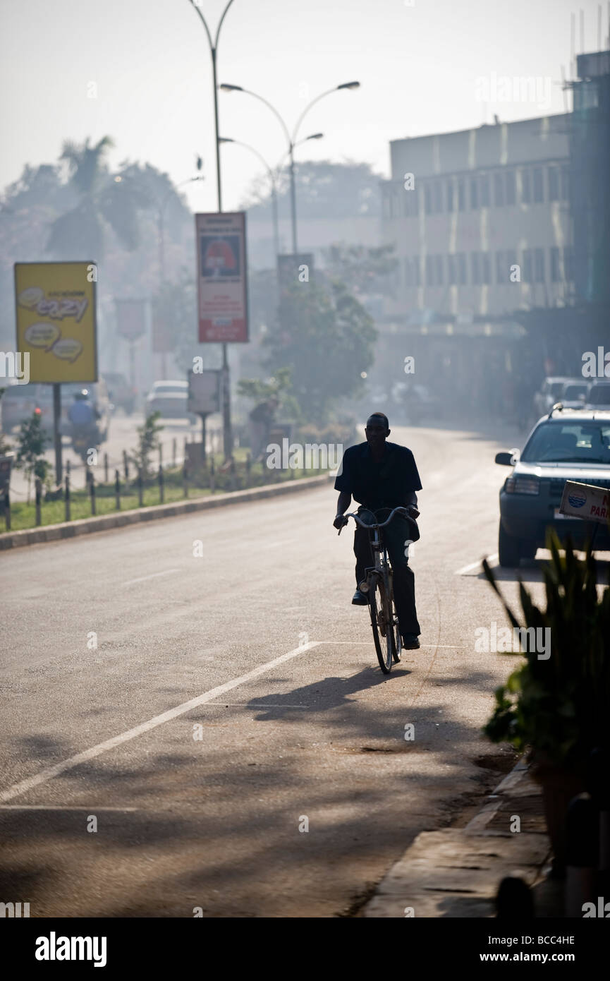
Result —
<svg viewBox="0 0 610 981"><path fill-rule="evenodd" d="M535 384L518 312L574 294L570 116L390 144L381 236L396 249L378 371L416 357L418 381L462 407L512 411ZM535 380L535 381L534 381Z"/></svg>

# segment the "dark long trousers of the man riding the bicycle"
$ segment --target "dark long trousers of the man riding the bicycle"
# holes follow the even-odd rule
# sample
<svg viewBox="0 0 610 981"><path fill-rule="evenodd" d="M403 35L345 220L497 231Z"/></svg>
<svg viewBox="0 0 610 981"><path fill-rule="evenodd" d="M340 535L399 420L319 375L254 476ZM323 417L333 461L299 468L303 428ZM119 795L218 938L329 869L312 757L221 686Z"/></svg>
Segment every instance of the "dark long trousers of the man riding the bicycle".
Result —
<svg viewBox="0 0 610 981"><path fill-rule="evenodd" d="M366 524L375 524L383 521L389 516L390 509L383 508L376 511L377 517L366 508L358 509L358 516ZM365 531L364 528L356 526L354 535L354 555L356 556L356 584L359 585L365 578L365 569L374 564L373 549L369 541L373 533ZM398 624L400 633L416 634L418 637L422 633L417 619L415 609L415 576L413 570L409 568L409 560L405 555L405 542L412 537L411 526L406 518L400 514L395 514L387 528L381 533L383 541L387 547L387 554L393 569L394 583L394 602L396 613L398 614Z"/></svg>

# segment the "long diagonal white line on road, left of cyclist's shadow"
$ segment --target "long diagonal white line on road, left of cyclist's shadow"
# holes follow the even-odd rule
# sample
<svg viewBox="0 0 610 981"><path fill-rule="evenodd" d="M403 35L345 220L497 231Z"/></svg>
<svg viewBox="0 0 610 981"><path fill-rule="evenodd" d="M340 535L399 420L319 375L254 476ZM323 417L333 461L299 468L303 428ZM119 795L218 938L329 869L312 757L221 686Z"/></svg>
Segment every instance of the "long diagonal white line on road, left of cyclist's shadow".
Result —
<svg viewBox="0 0 610 981"><path fill-rule="evenodd" d="M40 773L36 773L33 777L27 777L26 780L22 780L19 784L13 784L12 787L7 788L6 791L0 793L0 801L13 800L13 798L20 797L33 787L45 784L47 780L52 780L53 777L59 776L60 773L65 773L66 770L72 770L79 763L86 763L89 759L95 759L96 756L101 756L103 752L108 752L110 749L115 749L123 743L128 743L129 740L135 739L137 736L143 735L143 733L150 732L151 729L156 729L157 726L162 726L165 722L171 722L172 719L178 718L178 715L183 715L184 712L190 712L191 709L205 704L206 701L212 701L213 698L218 698L225 692L230 692L232 688L237 688L237 686L251 681L252 678L258 678L259 675L272 671L278 664L283 664L284 661L290 660L291 657L296 657L306 650L311 650L312 647L317 647L320 643L320 641L309 641L307 644L295 647L293 650L288 650L287 653L280 654L280 657L275 657L273 661L266 661L265 664L260 664L259 667L253 668L252 671L248 671L239 678L233 678L232 681L225 682L224 685L219 685L218 688L204 692L203 695L199 695L196 698L191 698L190 701L183 701L176 708L170 708L161 715L155 715L152 719L148 719L147 722L142 722L139 726L134 726L133 729L128 729L127 732L121 733L120 736L114 736L112 739L106 740L105 743L99 743L97 746L91 747L91 749L78 752L76 756L65 759L63 763L56 763L55 766L49 766L46 770L41 770Z"/></svg>

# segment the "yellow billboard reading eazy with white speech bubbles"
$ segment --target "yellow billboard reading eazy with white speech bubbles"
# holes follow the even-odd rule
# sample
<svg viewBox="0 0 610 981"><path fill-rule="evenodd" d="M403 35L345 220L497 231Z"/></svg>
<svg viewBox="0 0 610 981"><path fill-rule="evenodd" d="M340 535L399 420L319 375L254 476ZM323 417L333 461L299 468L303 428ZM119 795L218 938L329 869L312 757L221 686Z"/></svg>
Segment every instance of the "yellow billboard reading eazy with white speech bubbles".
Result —
<svg viewBox="0 0 610 981"><path fill-rule="evenodd" d="M30 382L97 382L92 262L16 262L17 350Z"/></svg>

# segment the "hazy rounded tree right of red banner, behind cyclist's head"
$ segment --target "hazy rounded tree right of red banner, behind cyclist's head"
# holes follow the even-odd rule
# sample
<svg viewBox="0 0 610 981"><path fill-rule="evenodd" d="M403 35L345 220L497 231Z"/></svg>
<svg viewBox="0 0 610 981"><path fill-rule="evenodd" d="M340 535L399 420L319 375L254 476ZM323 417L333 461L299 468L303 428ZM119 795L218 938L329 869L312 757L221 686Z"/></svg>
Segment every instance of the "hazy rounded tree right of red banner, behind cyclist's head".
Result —
<svg viewBox="0 0 610 981"><path fill-rule="evenodd" d="M344 284L294 284L263 341L274 374L291 369L291 391L307 419L325 424L333 403L358 395L374 357L373 319Z"/></svg>

